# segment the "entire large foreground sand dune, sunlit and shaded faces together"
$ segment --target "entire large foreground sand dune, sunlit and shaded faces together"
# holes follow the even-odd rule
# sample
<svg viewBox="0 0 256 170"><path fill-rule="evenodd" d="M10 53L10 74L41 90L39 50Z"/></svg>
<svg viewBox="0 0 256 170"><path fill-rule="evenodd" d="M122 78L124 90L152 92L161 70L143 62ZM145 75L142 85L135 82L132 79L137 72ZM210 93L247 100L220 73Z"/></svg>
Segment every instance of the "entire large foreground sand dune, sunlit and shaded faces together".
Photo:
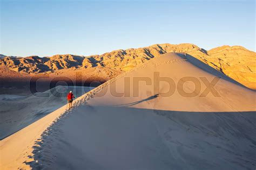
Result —
<svg viewBox="0 0 256 170"><path fill-rule="evenodd" d="M184 97L177 88L173 95L164 97L169 89L164 82L160 82L159 91L145 82L138 88L131 86L131 94L139 89L138 97L111 94L111 83L116 83L120 93L127 87L124 77L153 80L153 72L171 77L176 87L180 78L196 77L202 87L199 95L205 89L199 77L211 81L220 76L214 86L220 97ZM106 94L99 97L96 92L101 89ZM193 84L185 83L184 90L190 93ZM93 98L85 103L90 96ZM245 169L256 165L255 92L190 55L161 55L81 96L77 105L70 112L62 107L2 140L2 169L29 165L60 169Z"/></svg>

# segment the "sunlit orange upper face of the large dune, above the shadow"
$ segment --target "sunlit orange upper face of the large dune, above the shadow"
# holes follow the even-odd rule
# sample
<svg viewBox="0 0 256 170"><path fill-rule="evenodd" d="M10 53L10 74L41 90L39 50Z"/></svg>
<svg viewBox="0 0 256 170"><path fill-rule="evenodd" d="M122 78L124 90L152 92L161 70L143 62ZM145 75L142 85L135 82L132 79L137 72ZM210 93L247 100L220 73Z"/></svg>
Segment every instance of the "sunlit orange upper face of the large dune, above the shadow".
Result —
<svg viewBox="0 0 256 170"><path fill-rule="evenodd" d="M254 97L253 90L193 56L166 53L126 73L89 103L172 111L254 111Z"/></svg>

